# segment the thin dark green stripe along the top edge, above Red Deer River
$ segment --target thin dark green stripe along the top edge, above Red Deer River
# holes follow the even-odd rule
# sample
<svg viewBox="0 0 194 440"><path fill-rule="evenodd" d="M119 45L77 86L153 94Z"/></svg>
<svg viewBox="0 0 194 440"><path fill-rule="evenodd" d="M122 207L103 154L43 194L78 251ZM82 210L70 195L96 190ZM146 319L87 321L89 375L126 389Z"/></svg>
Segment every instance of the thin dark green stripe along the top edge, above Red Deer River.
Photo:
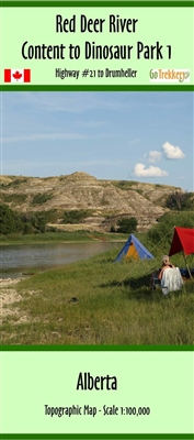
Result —
<svg viewBox="0 0 194 440"><path fill-rule="evenodd" d="M2 8L193 8L194 1L1 1Z"/></svg>

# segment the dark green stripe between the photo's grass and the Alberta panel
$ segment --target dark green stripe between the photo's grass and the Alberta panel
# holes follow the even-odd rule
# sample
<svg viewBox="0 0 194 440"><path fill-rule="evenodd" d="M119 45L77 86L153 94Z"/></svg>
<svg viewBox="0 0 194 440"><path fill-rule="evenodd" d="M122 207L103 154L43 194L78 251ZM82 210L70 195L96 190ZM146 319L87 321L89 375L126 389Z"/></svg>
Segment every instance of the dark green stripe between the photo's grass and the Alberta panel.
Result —
<svg viewBox="0 0 194 440"><path fill-rule="evenodd" d="M194 345L1 345L0 351L194 351Z"/></svg>

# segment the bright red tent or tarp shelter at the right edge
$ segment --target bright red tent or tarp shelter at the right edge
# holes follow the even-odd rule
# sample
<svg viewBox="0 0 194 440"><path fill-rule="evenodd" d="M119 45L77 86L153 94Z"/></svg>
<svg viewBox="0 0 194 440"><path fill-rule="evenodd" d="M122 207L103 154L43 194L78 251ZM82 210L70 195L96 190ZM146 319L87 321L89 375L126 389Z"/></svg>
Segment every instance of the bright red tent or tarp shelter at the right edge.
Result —
<svg viewBox="0 0 194 440"><path fill-rule="evenodd" d="M169 256L183 252L184 255L194 254L194 229L174 228Z"/></svg>

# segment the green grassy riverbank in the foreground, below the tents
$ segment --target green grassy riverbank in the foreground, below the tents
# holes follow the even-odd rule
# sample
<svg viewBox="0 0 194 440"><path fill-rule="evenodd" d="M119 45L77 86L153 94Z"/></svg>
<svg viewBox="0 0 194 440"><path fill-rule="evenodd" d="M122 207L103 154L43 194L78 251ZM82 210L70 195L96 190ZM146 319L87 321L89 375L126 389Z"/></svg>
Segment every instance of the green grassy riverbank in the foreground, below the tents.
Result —
<svg viewBox="0 0 194 440"><path fill-rule="evenodd" d="M116 254L20 282L22 300L12 310L19 309L27 322L16 314L7 317L2 344L193 344L193 282L162 297L160 288L149 288L156 261L117 264Z"/></svg>

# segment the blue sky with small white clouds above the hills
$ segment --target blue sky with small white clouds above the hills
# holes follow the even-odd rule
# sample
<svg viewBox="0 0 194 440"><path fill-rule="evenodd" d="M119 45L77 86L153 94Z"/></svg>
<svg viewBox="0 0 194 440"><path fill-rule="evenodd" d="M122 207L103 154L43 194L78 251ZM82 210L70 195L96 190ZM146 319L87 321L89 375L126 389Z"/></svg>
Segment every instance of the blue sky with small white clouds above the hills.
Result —
<svg viewBox="0 0 194 440"><path fill-rule="evenodd" d="M1 174L194 190L192 92L2 92Z"/></svg>

